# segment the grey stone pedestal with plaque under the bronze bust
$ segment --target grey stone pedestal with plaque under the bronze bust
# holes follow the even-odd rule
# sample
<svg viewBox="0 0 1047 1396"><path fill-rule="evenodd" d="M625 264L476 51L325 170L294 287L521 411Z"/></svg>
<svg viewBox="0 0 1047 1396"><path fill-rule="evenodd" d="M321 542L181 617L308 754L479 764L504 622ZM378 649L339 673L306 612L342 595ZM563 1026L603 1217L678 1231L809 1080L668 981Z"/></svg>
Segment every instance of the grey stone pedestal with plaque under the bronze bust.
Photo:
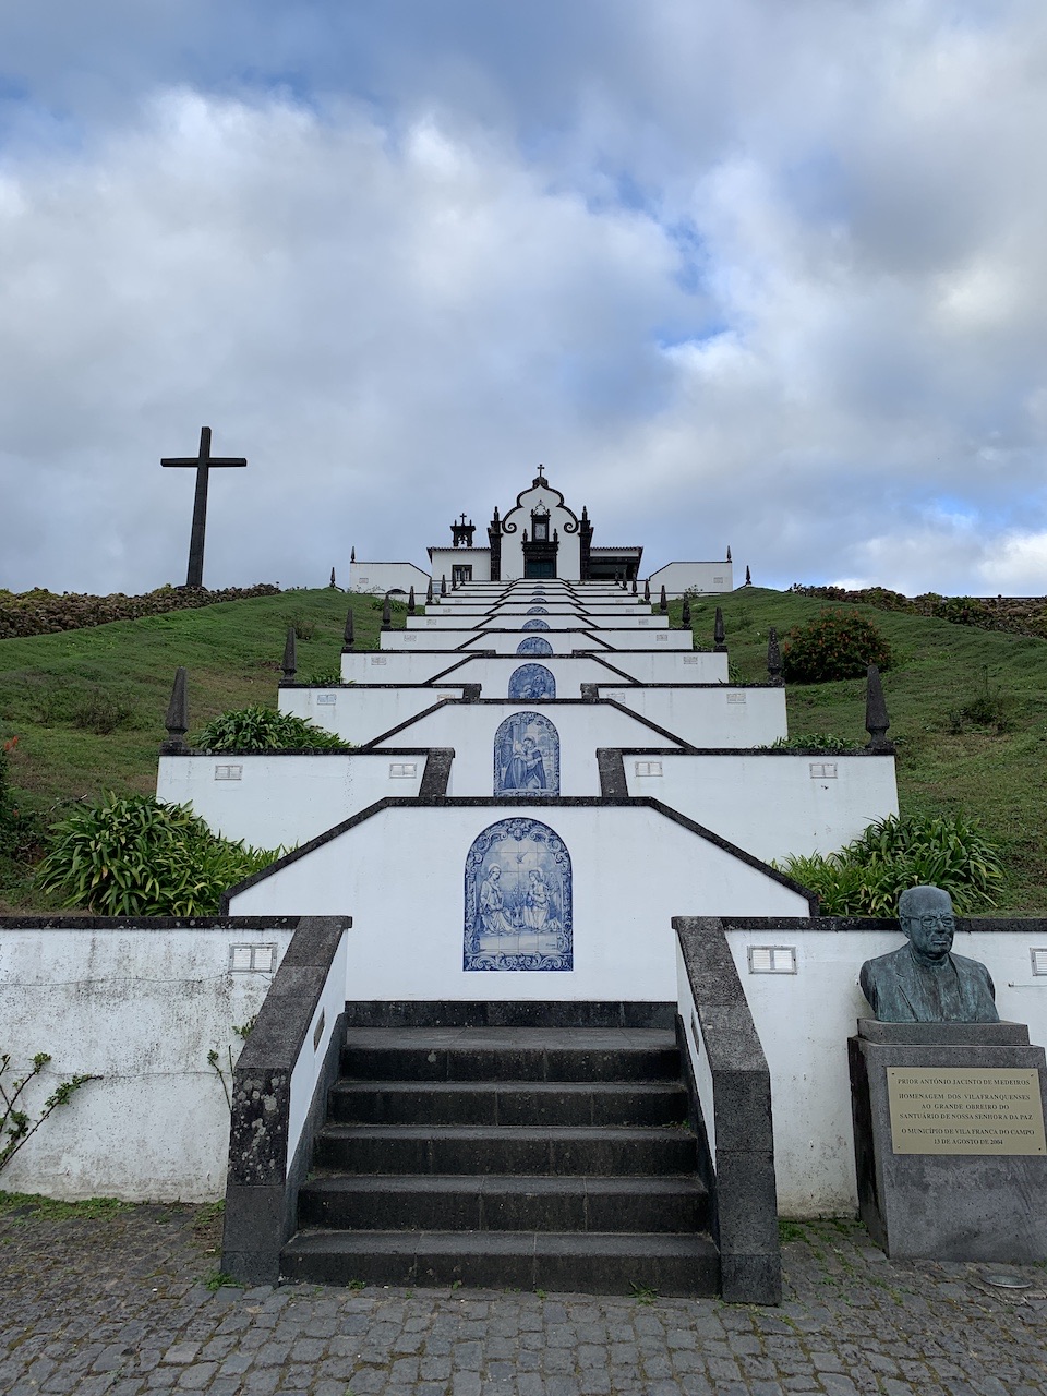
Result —
<svg viewBox="0 0 1047 1396"><path fill-rule="evenodd" d="M861 1220L891 1256L1047 1259L1047 1071L1022 1023L859 1022Z"/></svg>

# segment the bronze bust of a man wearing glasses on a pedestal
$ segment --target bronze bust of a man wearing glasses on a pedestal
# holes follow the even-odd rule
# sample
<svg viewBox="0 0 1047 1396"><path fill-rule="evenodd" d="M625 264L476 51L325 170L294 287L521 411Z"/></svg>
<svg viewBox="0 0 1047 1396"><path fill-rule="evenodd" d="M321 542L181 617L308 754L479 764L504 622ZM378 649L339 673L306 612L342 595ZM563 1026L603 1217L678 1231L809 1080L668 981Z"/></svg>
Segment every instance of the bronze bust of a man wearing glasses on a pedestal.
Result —
<svg viewBox="0 0 1047 1396"><path fill-rule="evenodd" d="M937 886L910 886L898 899L900 949L866 960L859 983L885 1023L998 1023L993 979L980 960L952 953L956 917Z"/></svg>

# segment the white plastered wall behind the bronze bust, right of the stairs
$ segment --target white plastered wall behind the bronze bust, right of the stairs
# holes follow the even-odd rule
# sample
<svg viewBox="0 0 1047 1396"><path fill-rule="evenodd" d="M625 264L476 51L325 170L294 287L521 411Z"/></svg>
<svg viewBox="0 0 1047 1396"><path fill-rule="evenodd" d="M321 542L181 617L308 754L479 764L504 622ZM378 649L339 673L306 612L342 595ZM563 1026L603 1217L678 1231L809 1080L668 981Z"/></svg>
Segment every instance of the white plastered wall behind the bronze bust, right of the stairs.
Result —
<svg viewBox="0 0 1047 1396"><path fill-rule="evenodd" d="M1041 924L1041 923L1039 923ZM745 998L771 1071L778 1206L783 1216L857 1209L847 1037L872 1011L859 988L864 960L898 949L892 931L727 930ZM1032 973L1036 931L959 931L958 955L988 966L1000 1016L1029 1025L1047 1044L1047 977ZM754 974L750 946L796 952L796 974Z"/></svg>

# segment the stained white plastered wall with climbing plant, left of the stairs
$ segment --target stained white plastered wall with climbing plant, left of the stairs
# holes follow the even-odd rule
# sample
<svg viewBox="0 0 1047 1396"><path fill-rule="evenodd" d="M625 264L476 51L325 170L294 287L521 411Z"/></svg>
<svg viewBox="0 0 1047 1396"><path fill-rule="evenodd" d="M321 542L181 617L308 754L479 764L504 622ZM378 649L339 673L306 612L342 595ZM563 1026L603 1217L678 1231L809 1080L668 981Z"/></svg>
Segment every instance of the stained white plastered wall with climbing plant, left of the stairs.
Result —
<svg viewBox="0 0 1047 1396"><path fill-rule="evenodd" d="M271 972L232 972L233 945L274 946L292 931L77 926L0 933L3 1047L22 1069L52 1062L31 1113L74 1075L98 1075L4 1168L4 1187L45 1196L207 1202L222 1196L229 1107L208 1065L229 1076L233 1032L258 1012ZM265 963L269 952L258 951ZM274 969L275 969L274 965Z"/></svg>

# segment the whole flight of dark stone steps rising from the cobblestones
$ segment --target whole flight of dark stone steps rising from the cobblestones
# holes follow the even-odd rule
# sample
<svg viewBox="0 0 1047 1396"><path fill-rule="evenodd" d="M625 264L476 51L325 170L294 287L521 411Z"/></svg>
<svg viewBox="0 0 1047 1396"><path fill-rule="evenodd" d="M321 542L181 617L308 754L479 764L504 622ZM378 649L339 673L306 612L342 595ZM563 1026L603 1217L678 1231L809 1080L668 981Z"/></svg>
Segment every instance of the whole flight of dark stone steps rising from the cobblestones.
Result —
<svg viewBox="0 0 1047 1396"><path fill-rule="evenodd" d="M357 1012L282 1276L715 1294L671 1011L564 1007L582 1026L528 1005L497 1026Z"/></svg>

